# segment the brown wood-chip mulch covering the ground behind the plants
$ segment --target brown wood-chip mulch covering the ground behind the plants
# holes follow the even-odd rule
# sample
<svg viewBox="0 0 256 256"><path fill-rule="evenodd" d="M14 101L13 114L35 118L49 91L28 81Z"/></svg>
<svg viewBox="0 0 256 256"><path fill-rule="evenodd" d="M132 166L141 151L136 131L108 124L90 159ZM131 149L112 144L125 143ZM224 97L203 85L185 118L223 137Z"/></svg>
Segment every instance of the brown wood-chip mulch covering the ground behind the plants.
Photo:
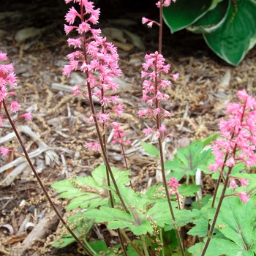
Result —
<svg viewBox="0 0 256 256"><path fill-rule="evenodd" d="M39 4L37 1L32 4L18 4L18 1L10 3L0 13L1 18L4 12L13 11L11 15L0 19L1 29L7 32L0 34L0 50L8 53L9 61L14 64L18 75L15 99L24 111L31 110L33 113L33 122L21 121L18 126L28 125L59 155L59 159L54 159L47 165L45 154L40 154L34 158L34 166L64 214L65 202L58 199L50 184L70 176L89 175L94 167L102 164L102 157L92 154L84 146L86 141L96 139L94 127L88 121L89 105L83 99L73 97L70 91L53 89L53 83L70 86L72 79L77 79L67 79L61 75L61 68L67 63L65 56L72 49L67 48L67 38L63 33L64 12L59 12L60 6L47 2ZM144 108L140 101L141 63L145 53L157 50L157 29L147 29L140 24L142 16L151 15L152 18L155 13L148 10L132 12L132 8L128 7L127 10L129 12L122 13L121 18L135 22L132 25L116 25L108 15L100 20L100 25L102 28L127 29L137 34L146 49L136 48L134 42L125 35L124 39L127 39L126 43L131 49L118 49L122 80L125 82L118 91L125 108L124 115L118 122L132 141L132 146L127 148L129 166L132 170L132 182L141 191L147 188L148 181L153 184L158 179L155 171L148 171L147 168L157 165L156 160L143 154L139 145L140 139L144 138L141 130L146 125L154 124L149 118L138 119L138 109ZM118 14L115 18L118 18ZM16 33L31 26L49 27L37 37L17 42ZM236 99L239 89L246 89L249 94L256 95L256 51L255 48L252 49L238 67L231 67L211 53L200 35L186 31L170 35L165 27L163 54L172 65L172 72L180 73L180 78L176 82L172 81L172 89L167 91L170 99L164 104L173 113L173 118L165 120L168 132L173 134L173 138L165 144L165 157L170 159L178 148L187 146L195 138L206 138L217 132L219 118L225 116L225 106ZM0 129L0 138L10 132L10 127L5 123ZM31 143L29 135L23 134L22 138L30 152L38 148L36 142ZM148 138L146 142L155 143L155 140ZM4 143L4 146L20 151L16 139ZM109 144L108 148L112 165L124 169L118 146ZM16 155L9 159L1 157L0 166L17 158ZM30 222L36 228L40 219L51 212L29 167L15 176L8 186L4 183L4 178L13 169L10 167L0 173L0 255L12 255L15 248L23 248L22 242L32 229L32 226L26 229L23 225ZM212 188L207 177L204 178L204 186L206 193ZM50 246L57 225L56 220L45 236L36 239L23 255L79 255L76 245L61 250ZM13 230L11 234L10 227Z"/></svg>

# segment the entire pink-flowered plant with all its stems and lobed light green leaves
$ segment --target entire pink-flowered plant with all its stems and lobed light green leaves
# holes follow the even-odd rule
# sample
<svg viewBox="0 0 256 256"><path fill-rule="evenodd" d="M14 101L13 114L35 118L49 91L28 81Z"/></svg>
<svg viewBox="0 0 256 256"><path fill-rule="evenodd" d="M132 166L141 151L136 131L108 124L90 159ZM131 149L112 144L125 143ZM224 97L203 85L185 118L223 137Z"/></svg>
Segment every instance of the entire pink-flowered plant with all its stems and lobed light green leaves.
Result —
<svg viewBox="0 0 256 256"><path fill-rule="evenodd" d="M66 34L76 31L78 37L67 39L75 50L67 55L69 64L64 66L63 74L69 77L73 71L83 72L84 83L74 86L72 93L80 94L89 102L89 123L95 126L97 140L85 142L85 147L99 151L105 165L95 168L91 176L69 178L52 185L59 197L69 200L66 219L61 217L48 195L15 127L20 118L31 121L31 113L21 114L14 120L10 116L21 108L15 100L7 100L14 97L9 87L14 88L17 79L12 64L0 64L0 126L7 117L23 148L23 156L67 229L59 232L53 246L61 248L77 241L84 253L91 256L254 255L256 178L250 169L256 165L256 99L245 90L238 91L240 102L227 105L228 118L219 121L219 135L195 140L179 149L174 159L166 161L162 143L173 135L164 125L164 118L172 116L162 108L162 102L170 100L165 89L170 88L171 83L165 79L169 76L177 80L178 73L169 74L170 64L165 64L162 55L162 8L168 7L171 1L157 1L159 21L142 19L149 28L159 26L159 48L145 56L141 72L145 107L138 110L138 117L149 116L155 121L154 127L143 129L143 133L157 138L158 145L145 142L141 145L146 154L159 159L162 183L154 184L145 193L135 191L124 150L131 142L123 127L113 120L121 117L124 107L118 103L118 95L109 94L110 90L118 89L113 78L121 76L117 49L101 36L100 29L93 29L99 20L99 9L94 3L73 2L80 10L69 9L65 16L69 24L64 30ZM0 51L0 61L6 59L7 53ZM109 129L113 132L107 140ZM111 166L108 141L120 145L125 170ZM207 148L210 143L211 148ZM3 157L10 151L12 149L1 147ZM157 167L149 167L154 168ZM170 170L167 176L166 170ZM216 181L213 196L199 196L201 186L195 181L198 172L210 174ZM195 202L187 203L187 199L195 199ZM111 236L116 236L114 246L107 246L102 240L91 241L91 230L98 229L99 224L106 225ZM193 244L186 241L187 236L193 236L189 239Z"/></svg>

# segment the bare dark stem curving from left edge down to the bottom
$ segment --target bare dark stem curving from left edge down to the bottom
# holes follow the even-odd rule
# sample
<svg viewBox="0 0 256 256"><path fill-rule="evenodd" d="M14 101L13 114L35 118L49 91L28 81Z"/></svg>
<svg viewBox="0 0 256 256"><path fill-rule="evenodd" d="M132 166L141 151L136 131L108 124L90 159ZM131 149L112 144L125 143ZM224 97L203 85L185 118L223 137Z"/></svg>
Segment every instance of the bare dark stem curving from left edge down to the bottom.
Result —
<svg viewBox="0 0 256 256"><path fill-rule="evenodd" d="M25 157L26 157L26 161L29 163L29 166L31 167L31 170L32 170L33 173L34 173L34 176L37 178L37 181L38 181L40 187L42 188L42 191L44 192L45 197L48 199L48 202L50 203L50 206L52 206L53 210L56 212L56 215L59 217L60 221L61 221L61 222L63 223L63 225L67 228L67 230L68 230L69 233L72 235L72 237L75 238L75 241L78 242L78 244L88 253L88 255L94 256L94 255L89 251L89 249L86 248L86 246L83 244L83 242L80 241L80 239L79 239L79 238L75 235L75 233L70 229L70 227L67 225L67 222L65 222L65 220L61 217L61 214L59 213L58 209L56 208L55 204L53 203L53 200L51 200L50 195L49 195L48 192L47 192L47 189L45 188L44 184L42 184L42 180L41 180L41 178L39 177L39 175L38 175L38 173L37 173L37 170L35 169L34 165L33 165L32 162L31 162L31 159L30 159L30 157L29 157L29 154L28 154L28 152L26 151L26 148L25 148L25 146L24 146L24 144L23 144L23 141L22 141L21 138L20 138L20 134L19 134L18 130L16 129L15 124L14 124L13 121L12 121L12 118L11 118L11 116L10 116L10 113L9 113L8 109L7 109L7 105L6 105L5 101L4 101L4 99L2 100L2 102L3 102L3 105L4 105L5 113L7 114L7 118L8 118L8 120L9 120L11 126L12 126L12 130L15 132L15 135L16 135L16 137L17 137L17 139L18 139L18 141L19 141L19 143L20 143L20 146L21 146L21 148L22 148L22 150L23 150L23 153L24 153L24 155L25 155Z"/></svg>

